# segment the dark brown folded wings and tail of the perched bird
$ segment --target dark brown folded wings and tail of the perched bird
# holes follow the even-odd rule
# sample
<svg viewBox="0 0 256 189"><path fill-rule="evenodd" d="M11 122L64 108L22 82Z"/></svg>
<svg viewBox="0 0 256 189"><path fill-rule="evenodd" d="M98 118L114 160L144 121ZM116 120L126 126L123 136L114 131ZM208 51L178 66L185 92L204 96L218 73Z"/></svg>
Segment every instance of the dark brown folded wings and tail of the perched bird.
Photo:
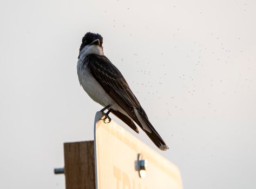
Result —
<svg viewBox="0 0 256 189"><path fill-rule="evenodd" d="M86 56L85 61L88 62L91 74L108 93L108 95L121 107L121 109L123 109L134 120L134 122L136 122L141 129L146 132L148 137L155 143L156 146L158 146L161 150L168 149L165 142L149 122L147 114L142 109L132 90L130 90L130 87L122 76L122 73L115 67L115 65L113 65L106 56L94 54ZM140 123L139 118L136 116L135 109L140 114L140 117L143 119L144 123ZM114 112L114 114L122 119L121 116L118 116L118 113ZM127 118L128 117L126 117L126 119ZM126 124L129 123L125 119L122 120ZM151 132L143 129L142 124L146 125ZM137 132L134 124L132 125L129 123L128 126Z"/></svg>

